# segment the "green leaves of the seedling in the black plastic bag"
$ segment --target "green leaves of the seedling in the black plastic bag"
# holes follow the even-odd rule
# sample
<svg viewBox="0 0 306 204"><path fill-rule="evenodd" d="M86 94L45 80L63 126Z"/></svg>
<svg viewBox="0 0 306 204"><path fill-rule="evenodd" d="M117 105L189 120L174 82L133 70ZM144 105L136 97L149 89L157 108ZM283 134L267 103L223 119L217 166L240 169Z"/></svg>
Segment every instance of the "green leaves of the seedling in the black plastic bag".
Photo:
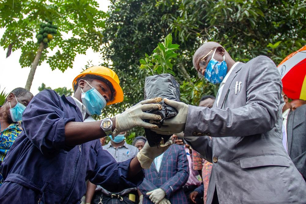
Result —
<svg viewBox="0 0 306 204"><path fill-rule="evenodd" d="M146 58L140 59L140 69L147 69L157 74L169 73L175 75L172 71L173 65L171 63L172 59L177 58L175 51L180 47L178 44L172 44L171 33L166 36L164 43L158 43L157 47L153 50L152 55L147 55Z"/></svg>

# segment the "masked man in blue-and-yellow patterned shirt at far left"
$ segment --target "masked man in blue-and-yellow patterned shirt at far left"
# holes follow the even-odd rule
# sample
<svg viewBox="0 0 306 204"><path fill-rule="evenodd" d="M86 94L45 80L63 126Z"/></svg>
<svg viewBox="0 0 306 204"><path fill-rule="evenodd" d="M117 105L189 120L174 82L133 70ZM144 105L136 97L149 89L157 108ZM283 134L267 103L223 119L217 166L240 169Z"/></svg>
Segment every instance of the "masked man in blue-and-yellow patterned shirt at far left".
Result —
<svg viewBox="0 0 306 204"><path fill-rule="evenodd" d="M9 93L0 106L0 167L22 128L18 123L22 119L24 109L32 100L33 94L24 88L16 88ZM0 186L3 178L0 173Z"/></svg>

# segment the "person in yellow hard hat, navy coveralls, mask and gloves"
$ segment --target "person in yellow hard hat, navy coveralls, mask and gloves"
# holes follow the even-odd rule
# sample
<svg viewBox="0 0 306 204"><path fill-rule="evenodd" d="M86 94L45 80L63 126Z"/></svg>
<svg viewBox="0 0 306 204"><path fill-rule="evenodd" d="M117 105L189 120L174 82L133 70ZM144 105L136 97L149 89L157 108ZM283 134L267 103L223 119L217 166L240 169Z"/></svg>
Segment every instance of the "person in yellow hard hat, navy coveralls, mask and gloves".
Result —
<svg viewBox="0 0 306 204"><path fill-rule="evenodd" d="M168 149L171 141L153 148L146 144L137 157L117 163L103 150L99 138L115 138L136 126L157 128L143 119L160 120L160 116L144 111L161 108L155 104L161 98L141 101L114 118L95 121L90 115L123 100L117 74L94 66L76 76L73 88L73 97L43 90L25 109L24 131L2 162L0 203L80 203L86 180L111 192L136 187L144 178L142 168L149 168Z"/></svg>

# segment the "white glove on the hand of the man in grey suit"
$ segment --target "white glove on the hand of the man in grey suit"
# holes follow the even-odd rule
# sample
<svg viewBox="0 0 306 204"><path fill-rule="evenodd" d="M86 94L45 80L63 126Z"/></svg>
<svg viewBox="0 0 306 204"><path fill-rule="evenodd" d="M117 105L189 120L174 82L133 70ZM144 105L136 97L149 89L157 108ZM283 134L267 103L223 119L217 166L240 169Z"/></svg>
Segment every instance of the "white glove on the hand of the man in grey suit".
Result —
<svg viewBox="0 0 306 204"><path fill-rule="evenodd" d="M188 115L188 105L175 100L164 99L165 103L177 109L178 114L171 119L166 119L162 123L162 127L152 129L159 134L176 134L185 130Z"/></svg>

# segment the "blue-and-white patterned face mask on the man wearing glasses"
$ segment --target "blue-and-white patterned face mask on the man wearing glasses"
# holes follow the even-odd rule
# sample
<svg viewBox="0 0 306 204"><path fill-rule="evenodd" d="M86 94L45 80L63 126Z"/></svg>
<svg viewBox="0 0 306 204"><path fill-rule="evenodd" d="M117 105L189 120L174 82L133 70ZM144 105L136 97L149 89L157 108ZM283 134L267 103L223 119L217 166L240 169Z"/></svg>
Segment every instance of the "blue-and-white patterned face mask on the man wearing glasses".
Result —
<svg viewBox="0 0 306 204"><path fill-rule="evenodd" d="M223 61L219 62L214 59L217 48L215 49L211 60L208 62L204 77L207 81L213 84L219 84L222 82L227 73L227 64L225 62L225 55L223 55Z"/></svg>

